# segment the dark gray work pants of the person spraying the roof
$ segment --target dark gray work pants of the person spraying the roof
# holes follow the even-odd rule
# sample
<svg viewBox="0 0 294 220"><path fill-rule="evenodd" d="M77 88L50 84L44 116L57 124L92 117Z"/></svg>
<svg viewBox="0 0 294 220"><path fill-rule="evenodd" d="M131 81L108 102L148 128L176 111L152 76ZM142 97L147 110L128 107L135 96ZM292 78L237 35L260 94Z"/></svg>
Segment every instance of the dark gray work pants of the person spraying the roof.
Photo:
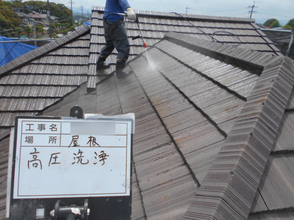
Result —
<svg viewBox="0 0 294 220"><path fill-rule="evenodd" d="M124 62L127 62L128 57L130 55L130 43L128 41L128 35L126 33L126 28L124 23L121 23L122 20L117 20L114 22L103 20L104 27L104 38L105 38L105 46L102 48L100 55L103 57L108 57L114 48L118 51L117 58L122 59Z"/></svg>

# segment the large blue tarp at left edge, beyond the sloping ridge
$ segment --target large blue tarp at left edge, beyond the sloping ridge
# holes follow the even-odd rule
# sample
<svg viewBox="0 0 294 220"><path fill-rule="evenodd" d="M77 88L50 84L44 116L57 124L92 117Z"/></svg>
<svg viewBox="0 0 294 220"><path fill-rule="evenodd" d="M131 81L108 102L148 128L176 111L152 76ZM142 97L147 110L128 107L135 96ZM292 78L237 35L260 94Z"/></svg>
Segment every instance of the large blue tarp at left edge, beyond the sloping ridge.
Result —
<svg viewBox="0 0 294 220"><path fill-rule="evenodd" d="M9 40L14 39L0 37L0 41ZM27 45L24 43L0 43L0 66L36 48L38 47Z"/></svg>

